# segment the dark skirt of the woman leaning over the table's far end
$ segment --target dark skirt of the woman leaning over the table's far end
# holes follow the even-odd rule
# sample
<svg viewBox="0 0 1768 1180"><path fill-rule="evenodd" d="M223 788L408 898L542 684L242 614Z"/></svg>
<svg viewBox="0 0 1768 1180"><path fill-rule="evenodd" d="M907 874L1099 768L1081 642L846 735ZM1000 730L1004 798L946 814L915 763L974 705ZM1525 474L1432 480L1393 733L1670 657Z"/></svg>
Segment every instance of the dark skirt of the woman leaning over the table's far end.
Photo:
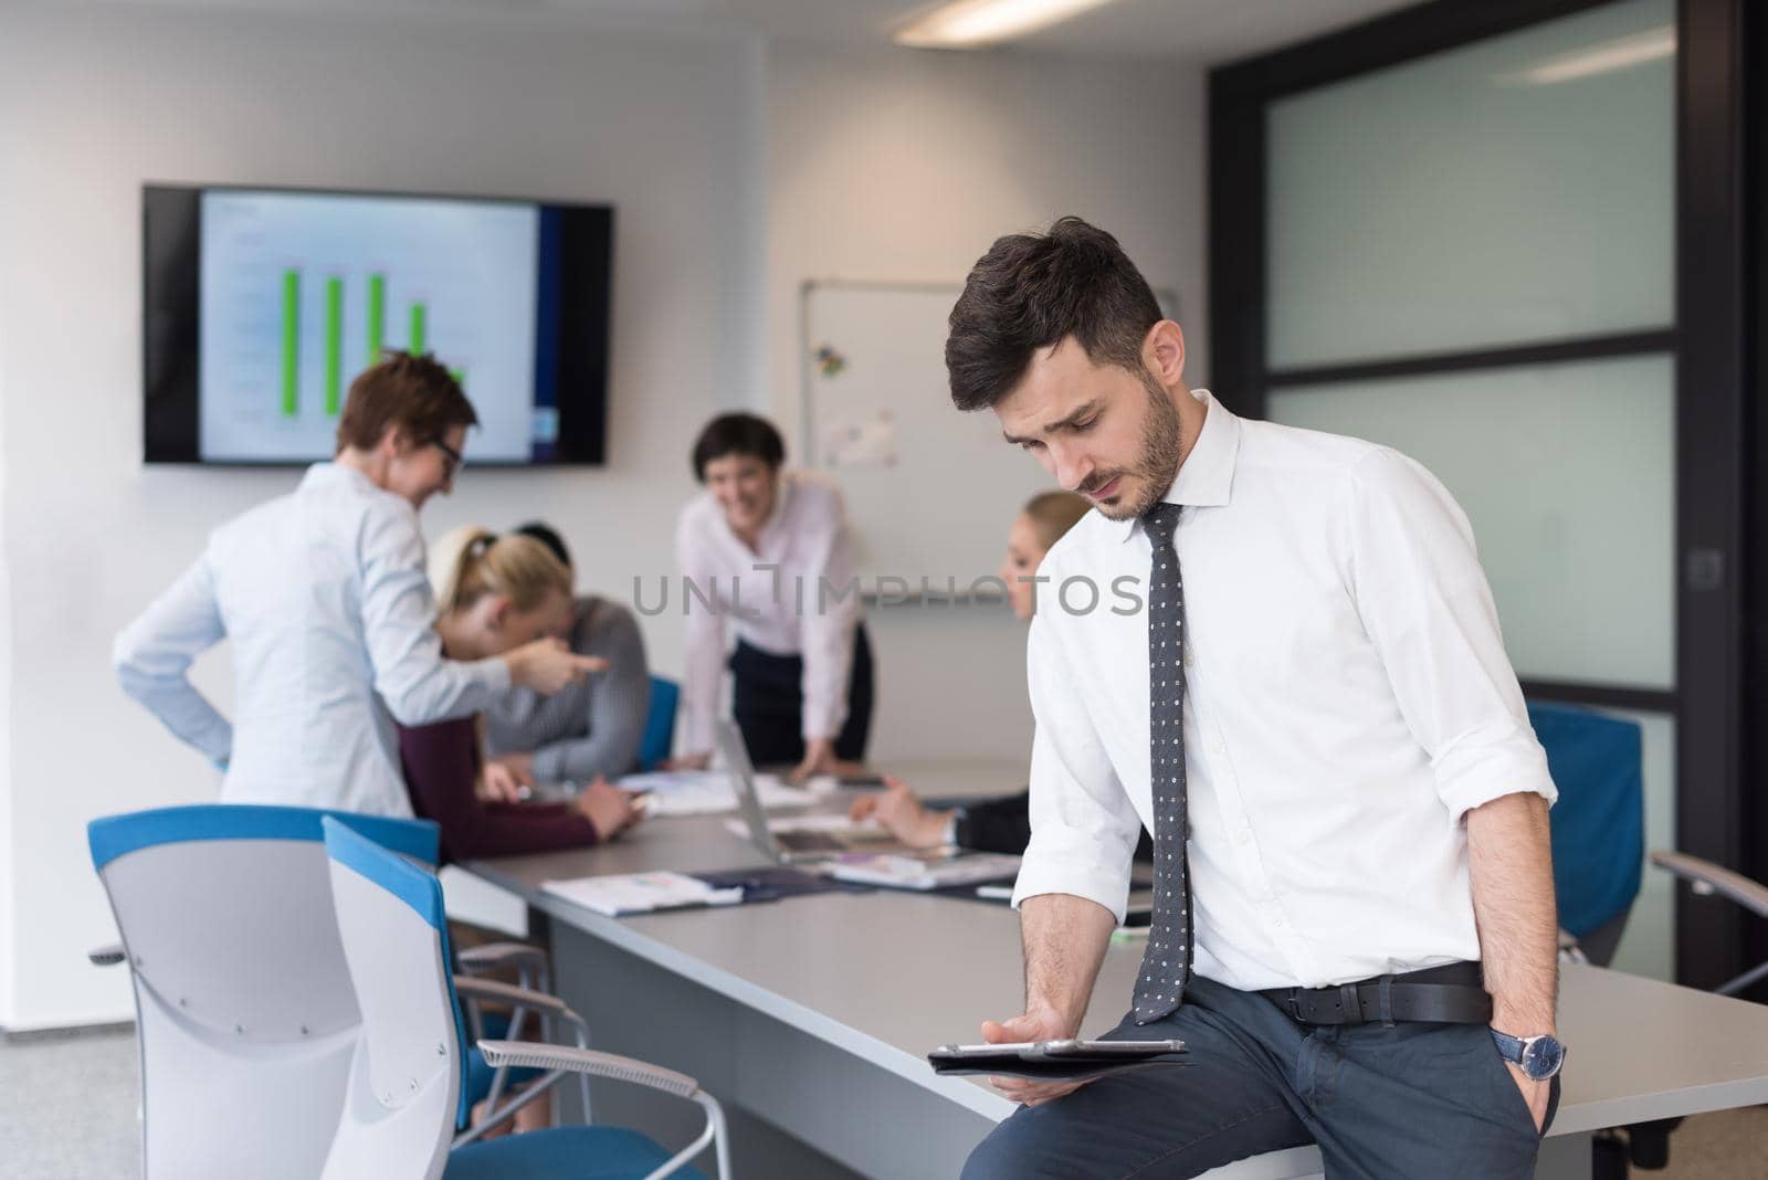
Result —
<svg viewBox="0 0 1768 1180"><path fill-rule="evenodd" d="M735 677L730 712L743 731L750 761L789 767L804 760L804 659L771 655L737 639L730 654ZM865 761L872 730L872 641L866 625L854 629L854 666L847 678L847 722L834 735L834 756Z"/></svg>

